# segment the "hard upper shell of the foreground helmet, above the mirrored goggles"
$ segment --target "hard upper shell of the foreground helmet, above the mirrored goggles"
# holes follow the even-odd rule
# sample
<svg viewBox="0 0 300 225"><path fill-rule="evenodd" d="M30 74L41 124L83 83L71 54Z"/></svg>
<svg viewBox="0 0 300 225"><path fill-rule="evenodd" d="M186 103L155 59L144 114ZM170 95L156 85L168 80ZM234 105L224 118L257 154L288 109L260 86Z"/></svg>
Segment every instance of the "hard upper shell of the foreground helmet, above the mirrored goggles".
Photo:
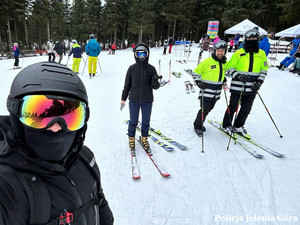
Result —
<svg viewBox="0 0 300 225"><path fill-rule="evenodd" d="M88 104L85 86L78 75L58 63L40 62L21 70L12 82L9 98L35 93L72 97Z"/></svg>

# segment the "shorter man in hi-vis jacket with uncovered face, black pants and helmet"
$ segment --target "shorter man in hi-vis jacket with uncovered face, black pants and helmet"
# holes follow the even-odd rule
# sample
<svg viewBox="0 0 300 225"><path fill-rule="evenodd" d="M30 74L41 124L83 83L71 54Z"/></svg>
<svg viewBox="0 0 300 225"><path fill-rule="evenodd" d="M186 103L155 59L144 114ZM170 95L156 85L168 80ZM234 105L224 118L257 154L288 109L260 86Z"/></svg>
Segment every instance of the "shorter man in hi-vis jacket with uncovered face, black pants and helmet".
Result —
<svg viewBox="0 0 300 225"><path fill-rule="evenodd" d="M226 52L226 42L216 42L213 46L212 56L202 61L192 73L196 85L200 88L198 97L200 110L194 121L194 131L200 137L203 135L203 131L206 130L203 122L220 99L222 86L227 81L225 77L227 66Z"/></svg>

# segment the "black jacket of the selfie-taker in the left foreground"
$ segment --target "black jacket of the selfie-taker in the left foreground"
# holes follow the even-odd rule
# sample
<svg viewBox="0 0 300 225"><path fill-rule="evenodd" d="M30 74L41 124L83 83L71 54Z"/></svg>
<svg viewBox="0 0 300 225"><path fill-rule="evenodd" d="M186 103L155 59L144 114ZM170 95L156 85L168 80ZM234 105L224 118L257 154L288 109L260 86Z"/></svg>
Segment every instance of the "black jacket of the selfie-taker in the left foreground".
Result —
<svg viewBox="0 0 300 225"><path fill-rule="evenodd" d="M74 218L68 217L72 225L113 224L99 169L87 147L83 146L77 156L70 154L74 158L65 168L29 157L14 143L8 116L0 117L0 128L1 225L59 224L58 218L66 212L74 213ZM91 156L90 163L84 160L83 152ZM88 205L96 196L98 203Z"/></svg>

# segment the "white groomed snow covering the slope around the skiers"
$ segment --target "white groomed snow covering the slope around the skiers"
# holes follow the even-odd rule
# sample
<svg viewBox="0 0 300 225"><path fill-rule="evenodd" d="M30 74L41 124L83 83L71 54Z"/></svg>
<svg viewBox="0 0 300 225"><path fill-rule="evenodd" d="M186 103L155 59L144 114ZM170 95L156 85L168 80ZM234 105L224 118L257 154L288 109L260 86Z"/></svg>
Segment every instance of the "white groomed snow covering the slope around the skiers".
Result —
<svg viewBox="0 0 300 225"><path fill-rule="evenodd" d="M130 151L127 125L128 101L120 111L121 93L128 67L133 64L132 50L116 51L116 55L102 52L99 57L102 71L89 79L87 67L80 78L86 85L90 120L85 144L96 156L101 170L101 181L106 198L115 216L116 225L231 225L236 221L228 216L274 216L275 221L240 221L238 224L300 224L300 152L299 119L300 76L288 71L269 68L268 76L259 91L275 120L283 139L279 138L259 97L255 99L246 127L253 140L264 143L275 151L285 154L276 158L254 145L249 147L264 155L255 159L232 140L226 151L228 137L205 123L205 153L201 153L202 140L193 130L193 122L199 110L199 88L186 94L184 81L193 81L183 69L196 67L199 48L192 47L187 64L176 60L184 57L162 55L163 48L150 51L149 62L158 71L161 59L163 79L169 79L169 60L172 71L181 72L181 78L171 75L171 84L154 91L151 126L164 135L187 145L184 151L174 147L167 152L154 142L150 145L155 157L171 174L163 178L144 150L136 143L136 157L141 179L131 177ZM229 59L232 53L228 53ZM278 55L279 62L285 54ZM208 53L203 53L203 59ZM20 59L20 65L46 61L47 56ZM86 56L84 56L86 59ZM6 98L10 84L20 70L9 70L14 60L0 60L0 112L7 114ZM67 62L67 57L62 63ZM70 58L69 64L72 63ZM98 64L97 64L98 66ZM71 66L69 66L71 67ZM228 79L230 83L230 79ZM230 93L227 91L227 97ZM224 92L207 119L222 121L226 109ZM137 132L137 135L140 135ZM155 136L155 135L154 135ZM168 142L162 140L166 144ZM216 219L217 216L224 220ZM277 216L296 216L298 221L280 221Z"/></svg>

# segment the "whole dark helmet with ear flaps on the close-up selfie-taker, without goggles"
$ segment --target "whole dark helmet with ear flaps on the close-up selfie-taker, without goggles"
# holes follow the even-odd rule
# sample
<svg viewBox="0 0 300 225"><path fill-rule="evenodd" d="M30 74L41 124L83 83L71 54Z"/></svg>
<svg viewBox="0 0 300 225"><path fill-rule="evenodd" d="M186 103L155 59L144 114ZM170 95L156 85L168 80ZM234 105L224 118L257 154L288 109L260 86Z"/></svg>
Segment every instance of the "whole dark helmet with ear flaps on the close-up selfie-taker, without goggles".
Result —
<svg viewBox="0 0 300 225"><path fill-rule="evenodd" d="M54 94L81 100L87 105L86 122L89 118L88 96L83 82L68 67L53 63L40 62L21 70L12 82L7 98L7 109L16 137L23 141L23 125L17 114L20 107L18 99L29 94ZM84 136L87 125L77 131L78 138ZM84 138L80 138L83 142ZM79 139L78 139L79 141Z"/></svg>

